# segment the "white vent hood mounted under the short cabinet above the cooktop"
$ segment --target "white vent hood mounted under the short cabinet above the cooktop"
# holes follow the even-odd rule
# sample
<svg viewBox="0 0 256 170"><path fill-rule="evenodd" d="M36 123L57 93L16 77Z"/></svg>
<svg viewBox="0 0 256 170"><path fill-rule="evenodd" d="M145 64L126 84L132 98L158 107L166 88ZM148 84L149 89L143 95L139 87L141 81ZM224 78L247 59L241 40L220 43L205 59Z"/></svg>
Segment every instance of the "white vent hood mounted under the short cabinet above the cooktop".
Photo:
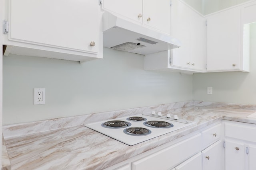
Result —
<svg viewBox="0 0 256 170"><path fill-rule="evenodd" d="M103 46L142 55L166 51L181 46L178 39L144 26L103 14Z"/></svg>

